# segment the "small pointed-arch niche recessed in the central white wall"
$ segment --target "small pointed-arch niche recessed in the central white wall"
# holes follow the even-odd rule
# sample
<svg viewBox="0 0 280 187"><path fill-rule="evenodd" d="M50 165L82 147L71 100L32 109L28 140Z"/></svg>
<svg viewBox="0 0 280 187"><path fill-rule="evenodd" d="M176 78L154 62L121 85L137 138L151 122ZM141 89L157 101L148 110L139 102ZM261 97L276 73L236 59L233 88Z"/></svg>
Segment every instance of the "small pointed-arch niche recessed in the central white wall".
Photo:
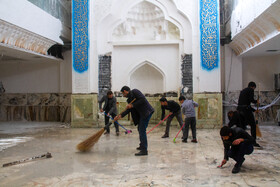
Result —
<svg viewBox="0 0 280 187"><path fill-rule="evenodd" d="M163 93L165 85L164 74L148 61L136 67L130 74L130 87L143 93Z"/></svg>

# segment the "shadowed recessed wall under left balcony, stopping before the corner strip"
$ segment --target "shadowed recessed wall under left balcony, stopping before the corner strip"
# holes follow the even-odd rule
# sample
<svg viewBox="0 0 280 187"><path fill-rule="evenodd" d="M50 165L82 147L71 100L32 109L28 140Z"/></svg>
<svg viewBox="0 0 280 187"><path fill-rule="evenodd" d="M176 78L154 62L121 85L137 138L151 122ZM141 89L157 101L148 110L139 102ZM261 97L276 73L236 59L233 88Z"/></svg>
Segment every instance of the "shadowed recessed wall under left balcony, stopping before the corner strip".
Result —
<svg viewBox="0 0 280 187"><path fill-rule="evenodd" d="M6 93L59 93L59 63L1 62Z"/></svg>

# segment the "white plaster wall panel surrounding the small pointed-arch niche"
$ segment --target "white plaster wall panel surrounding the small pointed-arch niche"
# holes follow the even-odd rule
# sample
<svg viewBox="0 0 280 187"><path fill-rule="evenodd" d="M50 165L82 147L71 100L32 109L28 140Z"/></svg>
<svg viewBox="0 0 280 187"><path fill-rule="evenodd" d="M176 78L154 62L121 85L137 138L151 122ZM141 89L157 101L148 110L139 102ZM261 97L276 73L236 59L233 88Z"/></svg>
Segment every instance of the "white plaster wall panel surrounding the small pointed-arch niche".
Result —
<svg viewBox="0 0 280 187"><path fill-rule="evenodd" d="M179 44L114 46L112 55L112 90L130 86L131 74L143 62L152 63L164 77L164 92L180 87ZM159 85L154 85L155 87ZM159 90L159 88L155 89Z"/></svg>

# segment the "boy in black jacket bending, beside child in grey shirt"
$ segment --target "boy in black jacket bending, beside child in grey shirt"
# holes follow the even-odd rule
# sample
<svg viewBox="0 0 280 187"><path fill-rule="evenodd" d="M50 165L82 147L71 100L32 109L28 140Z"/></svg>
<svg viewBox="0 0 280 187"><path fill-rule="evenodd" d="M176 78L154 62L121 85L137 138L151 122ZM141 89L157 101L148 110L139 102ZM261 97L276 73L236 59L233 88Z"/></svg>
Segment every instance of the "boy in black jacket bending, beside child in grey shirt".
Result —
<svg viewBox="0 0 280 187"><path fill-rule="evenodd" d="M162 138L168 138L169 137L170 124L171 124L171 121L174 117L177 118L177 121L179 122L180 127L182 127L182 125L183 125L181 107L175 101L172 101L172 100L167 101L167 99L165 97L162 97L159 101L160 101L161 110L162 110L161 120L163 120L163 118L165 116L165 110L169 110L170 113L171 113L171 115L167 118L165 133L162 136Z"/></svg>

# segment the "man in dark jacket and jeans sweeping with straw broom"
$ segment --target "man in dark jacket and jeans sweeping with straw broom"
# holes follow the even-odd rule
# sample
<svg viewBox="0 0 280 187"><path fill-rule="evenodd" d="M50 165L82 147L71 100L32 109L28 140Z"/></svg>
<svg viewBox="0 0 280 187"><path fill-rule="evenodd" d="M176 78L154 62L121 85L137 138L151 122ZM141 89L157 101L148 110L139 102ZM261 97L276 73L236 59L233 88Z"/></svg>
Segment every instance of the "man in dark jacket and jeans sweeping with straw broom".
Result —
<svg viewBox="0 0 280 187"><path fill-rule="evenodd" d="M154 113L154 109L138 89L130 90L128 86L124 86L122 87L121 92L124 97L127 97L127 103L129 104L126 106L126 111L116 116L114 120L123 118L128 113L131 113L134 125L138 125L140 139L140 145L136 148L137 150L140 150L140 152L135 153L135 156L148 155L146 129ZM133 101L134 99L135 101Z"/></svg>

